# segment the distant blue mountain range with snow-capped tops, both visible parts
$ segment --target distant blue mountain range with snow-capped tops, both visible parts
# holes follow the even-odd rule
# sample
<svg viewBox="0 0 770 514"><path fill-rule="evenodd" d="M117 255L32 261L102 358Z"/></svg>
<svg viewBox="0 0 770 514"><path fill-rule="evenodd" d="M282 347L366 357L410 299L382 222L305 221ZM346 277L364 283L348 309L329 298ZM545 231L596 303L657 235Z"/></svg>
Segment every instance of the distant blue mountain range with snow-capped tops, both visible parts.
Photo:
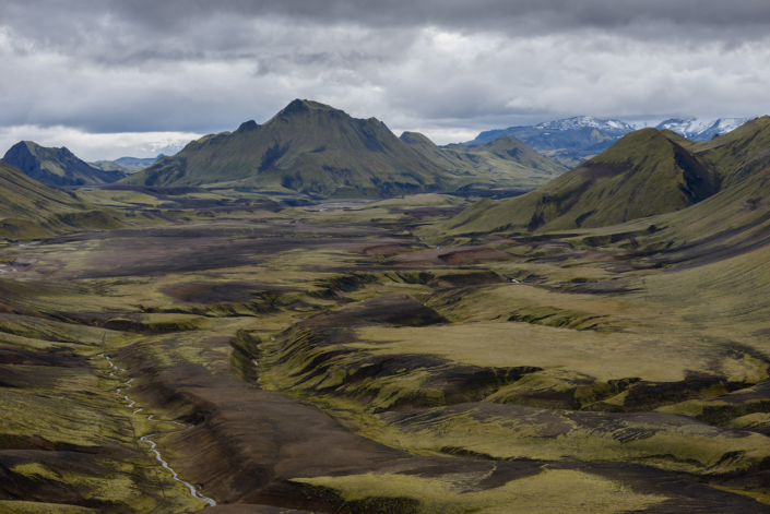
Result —
<svg viewBox="0 0 770 514"><path fill-rule="evenodd" d="M725 134L737 129L749 119L721 118L710 121L701 121L696 118L668 119L655 128L658 130L668 129L690 141L708 141L714 134ZM547 155L565 166L574 167L604 152L617 140L635 130L635 127L625 121L578 116L535 125L488 130L479 133L473 141L461 143L461 145L478 145L506 135L514 136L541 154Z"/></svg>

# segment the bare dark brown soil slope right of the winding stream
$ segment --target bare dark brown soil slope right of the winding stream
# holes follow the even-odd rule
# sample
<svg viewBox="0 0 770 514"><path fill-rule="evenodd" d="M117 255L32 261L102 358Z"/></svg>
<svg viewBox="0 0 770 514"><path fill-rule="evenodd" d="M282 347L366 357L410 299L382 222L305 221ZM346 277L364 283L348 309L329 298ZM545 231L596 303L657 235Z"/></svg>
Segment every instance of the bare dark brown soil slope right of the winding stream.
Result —
<svg viewBox="0 0 770 514"><path fill-rule="evenodd" d="M489 474L486 487L491 489L543 470L543 463L533 462L413 456L353 434L318 408L292 396L263 391L235 379L213 376L199 367L159 370L131 347L117 357L129 364L131 374L143 375L152 369L153 380L135 392L141 397L173 405L180 413L189 413L188 420L202 421L194 429L169 438L174 450L185 455L173 465L193 482L204 483L205 491L222 503L280 505L329 513L379 512L359 510L355 505L346 507L289 480L367 473L449 477L483 471ZM754 500L645 466L549 463L547 467L580 469L621 479L633 491L670 498L647 512L767 512ZM240 509L223 507L224 512L263 512Z"/></svg>

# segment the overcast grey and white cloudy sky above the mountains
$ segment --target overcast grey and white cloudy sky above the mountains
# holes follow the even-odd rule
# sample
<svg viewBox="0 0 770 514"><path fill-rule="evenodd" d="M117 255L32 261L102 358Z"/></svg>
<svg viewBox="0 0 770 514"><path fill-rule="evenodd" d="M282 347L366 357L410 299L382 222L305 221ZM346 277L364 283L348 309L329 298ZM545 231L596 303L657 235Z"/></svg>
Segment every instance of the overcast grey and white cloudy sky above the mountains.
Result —
<svg viewBox="0 0 770 514"><path fill-rule="evenodd" d="M2 0L0 155L168 153L294 98L437 143L770 113L768 0Z"/></svg>

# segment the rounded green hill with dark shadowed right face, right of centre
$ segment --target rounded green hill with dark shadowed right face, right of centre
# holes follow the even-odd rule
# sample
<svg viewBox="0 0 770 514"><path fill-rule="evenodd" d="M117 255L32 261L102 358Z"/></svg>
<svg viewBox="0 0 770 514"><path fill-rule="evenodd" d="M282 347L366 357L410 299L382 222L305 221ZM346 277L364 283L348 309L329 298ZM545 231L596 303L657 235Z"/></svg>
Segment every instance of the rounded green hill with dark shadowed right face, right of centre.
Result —
<svg viewBox="0 0 770 514"><path fill-rule="evenodd" d="M658 129L632 132L535 191L474 204L445 229L567 230L684 210L714 194L721 177L678 139Z"/></svg>

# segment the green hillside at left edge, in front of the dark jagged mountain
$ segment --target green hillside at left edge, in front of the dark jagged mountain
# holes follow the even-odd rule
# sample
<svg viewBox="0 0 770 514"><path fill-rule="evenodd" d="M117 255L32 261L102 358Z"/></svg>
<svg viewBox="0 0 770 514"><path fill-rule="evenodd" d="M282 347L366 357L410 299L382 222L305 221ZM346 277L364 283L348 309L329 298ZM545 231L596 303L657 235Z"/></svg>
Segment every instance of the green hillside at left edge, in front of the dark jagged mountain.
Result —
<svg viewBox="0 0 770 514"><path fill-rule="evenodd" d="M33 239L123 226L117 212L84 204L0 162L0 238Z"/></svg>

